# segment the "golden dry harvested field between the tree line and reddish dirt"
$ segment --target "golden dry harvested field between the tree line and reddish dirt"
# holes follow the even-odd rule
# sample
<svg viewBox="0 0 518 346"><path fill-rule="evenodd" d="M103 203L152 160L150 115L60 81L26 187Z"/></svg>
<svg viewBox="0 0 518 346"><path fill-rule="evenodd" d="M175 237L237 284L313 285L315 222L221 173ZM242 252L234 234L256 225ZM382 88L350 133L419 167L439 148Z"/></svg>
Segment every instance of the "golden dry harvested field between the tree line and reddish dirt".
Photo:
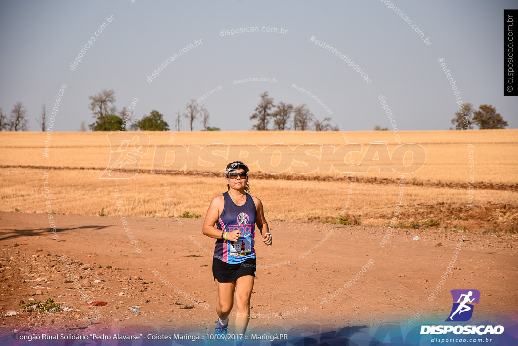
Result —
<svg viewBox="0 0 518 346"><path fill-rule="evenodd" d="M387 226L399 191L403 203L398 227L423 229L439 226L516 232L518 158L513 153L518 149L518 130L398 133L401 143L419 144L425 153L424 156L423 151L415 151L414 159L424 162L424 165L418 172L405 174L402 189L398 187L399 173L380 173L376 167L369 169L369 166L379 166L382 171L392 170L391 167L405 169L404 166L411 162L409 153L404 159L400 155L399 161L394 160L396 155L392 160L388 159L386 155L398 146L394 133L389 131L147 132L147 136L140 135L139 141L143 142L138 143L139 146L146 144L149 136L149 145L140 149L139 166L126 165L124 172L116 167L112 172L113 177L133 176L128 179L99 179L102 175L106 177L104 172L108 163L111 165L120 155L112 153L121 143L118 134L107 137L107 133L101 132L56 132L49 140L44 133L2 132L0 210L45 213L46 205L50 205L53 213L67 215L114 216L122 208L127 216L179 217L188 212L203 217L211 198L225 190L223 175L186 171L219 171L232 158L220 152L220 156L218 153L208 157L202 154L202 160L196 162L199 157L196 149L193 149L194 155L182 156L177 151L175 156L169 154L165 157L159 155L160 145L188 147L199 144L203 147L210 144L211 150L226 150L227 144L247 144L251 157L243 158L243 161L250 162L251 158L258 161L250 165L251 192L261 198L271 220ZM132 135L124 136L131 139ZM50 142L48 157L43 155L46 140ZM381 142L381 145L369 147L374 142ZM285 151L287 146L295 148L301 144L313 144L310 146L312 150L320 150L320 145L327 145L322 148L320 162L315 156L310 157L311 153L304 154L304 150ZM329 145L336 149L344 144L361 144L361 149L354 147L361 153L344 157L344 151L339 151L333 157L333 149L329 151ZM263 150L254 154L257 150L254 148L268 145L272 148L268 153ZM472 183L469 183L468 145L473 150ZM235 158L239 155L235 151L238 146L230 147L229 156ZM373 150L366 154L367 150L374 148L377 148L377 153ZM284 150L284 158L277 150ZM210 168L203 158L209 161L216 159L219 165ZM354 180L350 175L340 176L340 172L329 169L331 163L339 165L340 158L341 167L355 164L348 168L366 173L356 173ZM157 167L171 171L175 163L170 166L163 164L178 160L187 162L183 170L169 174L153 173L157 172ZM292 170L304 165L297 161L316 160L319 170L308 174L290 173L289 170L281 174L264 172L267 164L280 167L287 160L287 167ZM401 160L404 160L403 164ZM160 162L163 162L162 166ZM472 203L468 200L470 185L473 186ZM45 190L48 190L46 196ZM118 197L115 197L116 190L120 193ZM494 203L506 203L506 209L484 210L484 206ZM466 208L468 204L473 205L471 212ZM341 220L340 215L343 215Z"/></svg>

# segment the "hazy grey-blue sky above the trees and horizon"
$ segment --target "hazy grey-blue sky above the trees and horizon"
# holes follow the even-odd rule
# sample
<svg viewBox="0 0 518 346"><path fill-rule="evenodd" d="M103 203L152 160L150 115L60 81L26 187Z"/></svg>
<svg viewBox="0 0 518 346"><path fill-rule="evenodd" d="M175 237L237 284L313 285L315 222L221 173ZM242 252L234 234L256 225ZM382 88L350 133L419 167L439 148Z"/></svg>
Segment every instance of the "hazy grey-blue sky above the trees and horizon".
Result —
<svg viewBox="0 0 518 346"><path fill-rule="evenodd" d="M345 1L2 1L0 3L0 107L8 114L22 101L30 130L42 103L49 112L62 84L65 93L54 131L76 131L93 122L88 96L116 92L117 107L138 99L135 117L156 109L171 129L175 113L201 98L210 125L249 130L258 94L274 102L305 103L318 118L326 110L293 84L310 90L345 130L389 127L378 96L386 101L399 130L444 130L458 109L439 58L451 71L463 102L491 104L518 127L518 99L503 96L503 9L513 1L395 1L408 24L382 0ZM107 25L70 70L81 48ZM427 45L411 25L428 37ZM277 27L285 34L222 30ZM348 54L370 84L332 51ZM165 60L178 55L148 82ZM248 81L243 78L275 78ZM184 119L181 130L188 130ZM198 121L195 130L202 129Z"/></svg>

